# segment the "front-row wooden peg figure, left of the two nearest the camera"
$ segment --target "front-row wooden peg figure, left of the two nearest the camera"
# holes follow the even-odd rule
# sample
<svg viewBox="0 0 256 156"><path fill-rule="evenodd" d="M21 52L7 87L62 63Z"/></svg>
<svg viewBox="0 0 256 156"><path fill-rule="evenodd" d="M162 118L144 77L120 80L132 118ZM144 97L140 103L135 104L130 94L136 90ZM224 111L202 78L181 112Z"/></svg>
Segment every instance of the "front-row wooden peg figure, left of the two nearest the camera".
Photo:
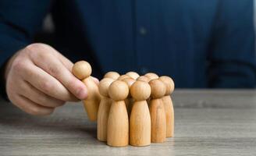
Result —
<svg viewBox="0 0 256 156"><path fill-rule="evenodd" d="M129 119L124 100L129 87L123 81L116 80L108 88L113 102L108 115L107 144L112 147L125 147L129 144Z"/></svg>

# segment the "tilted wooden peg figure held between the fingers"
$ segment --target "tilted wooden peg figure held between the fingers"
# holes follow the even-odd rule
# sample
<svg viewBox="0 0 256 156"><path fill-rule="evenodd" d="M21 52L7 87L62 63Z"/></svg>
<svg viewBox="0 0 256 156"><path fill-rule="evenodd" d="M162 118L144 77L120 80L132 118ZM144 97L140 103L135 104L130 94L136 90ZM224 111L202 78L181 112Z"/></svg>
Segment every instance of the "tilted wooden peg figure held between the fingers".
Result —
<svg viewBox="0 0 256 156"><path fill-rule="evenodd" d="M87 112L88 118L91 121L96 121L101 95L98 91L98 84L96 84L91 78L91 66L86 61L76 62L73 66L72 73L86 85L88 96L83 101L84 108Z"/></svg>

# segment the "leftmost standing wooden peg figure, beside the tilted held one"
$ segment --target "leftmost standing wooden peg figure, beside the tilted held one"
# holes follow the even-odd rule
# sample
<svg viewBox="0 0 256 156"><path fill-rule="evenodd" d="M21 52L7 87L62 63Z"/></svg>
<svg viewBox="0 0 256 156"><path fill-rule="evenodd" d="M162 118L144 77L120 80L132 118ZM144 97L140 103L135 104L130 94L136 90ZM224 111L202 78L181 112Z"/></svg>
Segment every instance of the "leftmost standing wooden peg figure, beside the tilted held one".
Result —
<svg viewBox="0 0 256 156"><path fill-rule="evenodd" d="M108 87L113 81L113 79L106 77L98 85L101 94L101 103L98 108L97 138L101 141L107 140L108 114L112 104L112 100L108 96Z"/></svg>

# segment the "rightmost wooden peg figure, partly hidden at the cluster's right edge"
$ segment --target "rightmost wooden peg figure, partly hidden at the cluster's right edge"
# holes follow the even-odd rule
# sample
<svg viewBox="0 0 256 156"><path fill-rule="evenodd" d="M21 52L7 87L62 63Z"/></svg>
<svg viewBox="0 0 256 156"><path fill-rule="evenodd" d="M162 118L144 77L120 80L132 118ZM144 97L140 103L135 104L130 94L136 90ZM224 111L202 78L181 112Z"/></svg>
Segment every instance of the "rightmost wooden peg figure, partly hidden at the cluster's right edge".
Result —
<svg viewBox="0 0 256 156"><path fill-rule="evenodd" d="M174 83L172 78L170 78L169 76L161 76L159 80L165 83L165 87L166 87L165 96L162 97L162 101L165 106L166 137L173 137L174 136L174 110L172 105L172 98L170 95L174 90Z"/></svg>

